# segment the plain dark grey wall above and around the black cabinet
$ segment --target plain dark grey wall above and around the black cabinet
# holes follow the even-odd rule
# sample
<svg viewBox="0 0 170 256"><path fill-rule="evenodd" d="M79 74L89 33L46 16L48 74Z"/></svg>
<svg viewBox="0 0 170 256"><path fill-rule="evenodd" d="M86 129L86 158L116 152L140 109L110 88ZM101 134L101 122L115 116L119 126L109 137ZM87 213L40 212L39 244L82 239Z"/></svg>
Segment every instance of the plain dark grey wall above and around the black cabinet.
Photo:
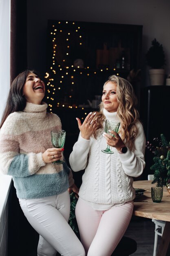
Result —
<svg viewBox="0 0 170 256"><path fill-rule="evenodd" d="M28 64L45 74L48 19L143 25L142 74L145 54L156 38L170 73L170 0L28 0ZM148 78L143 79L145 85Z"/></svg>

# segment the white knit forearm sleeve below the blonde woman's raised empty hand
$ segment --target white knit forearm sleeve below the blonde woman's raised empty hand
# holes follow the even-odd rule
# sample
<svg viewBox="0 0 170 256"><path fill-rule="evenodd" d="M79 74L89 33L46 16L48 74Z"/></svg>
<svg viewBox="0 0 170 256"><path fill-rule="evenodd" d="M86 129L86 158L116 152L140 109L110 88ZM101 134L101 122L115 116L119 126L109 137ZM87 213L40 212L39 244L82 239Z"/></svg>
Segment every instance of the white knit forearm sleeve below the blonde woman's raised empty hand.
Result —
<svg viewBox="0 0 170 256"><path fill-rule="evenodd" d="M84 170L88 161L88 151L90 148L90 139L83 139L81 134L73 146L73 151L69 157L69 163L73 171Z"/></svg>

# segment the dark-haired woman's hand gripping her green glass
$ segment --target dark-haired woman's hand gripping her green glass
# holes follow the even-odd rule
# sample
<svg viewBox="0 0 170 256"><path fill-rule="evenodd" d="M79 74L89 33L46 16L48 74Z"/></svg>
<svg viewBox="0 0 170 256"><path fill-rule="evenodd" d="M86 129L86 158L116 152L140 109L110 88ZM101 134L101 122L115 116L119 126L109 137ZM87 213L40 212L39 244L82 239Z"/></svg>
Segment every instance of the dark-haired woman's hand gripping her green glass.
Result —
<svg viewBox="0 0 170 256"><path fill-rule="evenodd" d="M43 154L42 159L46 164L60 160L64 148L48 148Z"/></svg>

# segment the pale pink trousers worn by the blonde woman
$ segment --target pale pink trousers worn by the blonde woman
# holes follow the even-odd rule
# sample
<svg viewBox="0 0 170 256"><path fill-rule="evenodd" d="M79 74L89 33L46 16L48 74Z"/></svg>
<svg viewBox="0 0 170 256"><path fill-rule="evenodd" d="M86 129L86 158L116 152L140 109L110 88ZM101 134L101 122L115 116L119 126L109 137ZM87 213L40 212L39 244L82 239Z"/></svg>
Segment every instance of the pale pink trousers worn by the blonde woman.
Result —
<svg viewBox="0 0 170 256"><path fill-rule="evenodd" d="M94 210L79 198L75 214L87 256L110 256L132 217L133 201L106 211Z"/></svg>

